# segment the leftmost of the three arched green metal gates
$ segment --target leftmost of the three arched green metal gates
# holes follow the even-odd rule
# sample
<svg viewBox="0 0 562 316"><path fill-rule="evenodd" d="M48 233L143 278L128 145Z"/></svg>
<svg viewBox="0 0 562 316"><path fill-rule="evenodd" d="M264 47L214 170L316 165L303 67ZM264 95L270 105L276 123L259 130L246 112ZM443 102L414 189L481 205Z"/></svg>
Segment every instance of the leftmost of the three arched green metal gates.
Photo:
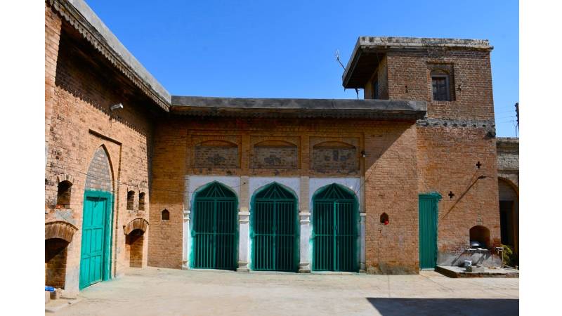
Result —
<svg viewBox="0 0 562 316"><path fill-rule="evenodd" d="M237 199L234 192L214 182L195 195L192 268L235 270L237 254Z"/></svg>

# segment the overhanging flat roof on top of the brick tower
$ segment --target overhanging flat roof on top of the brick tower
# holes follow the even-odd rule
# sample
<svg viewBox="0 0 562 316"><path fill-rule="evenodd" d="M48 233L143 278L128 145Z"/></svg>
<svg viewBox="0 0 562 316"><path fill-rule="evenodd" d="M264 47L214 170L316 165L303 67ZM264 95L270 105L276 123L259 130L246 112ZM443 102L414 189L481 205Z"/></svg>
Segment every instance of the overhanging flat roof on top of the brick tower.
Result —
<svg viewBox="0 0 562 316"><path fill-rule="evenodd" d="M359 37L342 76L344 88L363 88L388 51L414 51L429 47L491 51L488 39L438 39L430 37Z"/></svg>

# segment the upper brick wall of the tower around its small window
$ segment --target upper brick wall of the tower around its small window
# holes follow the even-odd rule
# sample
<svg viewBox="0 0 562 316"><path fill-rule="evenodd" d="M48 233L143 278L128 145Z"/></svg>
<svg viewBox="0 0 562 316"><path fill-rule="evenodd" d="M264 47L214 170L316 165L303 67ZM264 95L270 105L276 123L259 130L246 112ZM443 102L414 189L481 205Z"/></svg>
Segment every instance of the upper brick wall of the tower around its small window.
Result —
<svg viewBox="0 0 562 316"><path fill-rule="evenodd" d="M390 99L426 100L428 102L427 114L430 118L494 118L489 52L388 53L387 60ZM429 67L432 64L449 65L454 68L455 101L432 102L431 69Z"/></svg>

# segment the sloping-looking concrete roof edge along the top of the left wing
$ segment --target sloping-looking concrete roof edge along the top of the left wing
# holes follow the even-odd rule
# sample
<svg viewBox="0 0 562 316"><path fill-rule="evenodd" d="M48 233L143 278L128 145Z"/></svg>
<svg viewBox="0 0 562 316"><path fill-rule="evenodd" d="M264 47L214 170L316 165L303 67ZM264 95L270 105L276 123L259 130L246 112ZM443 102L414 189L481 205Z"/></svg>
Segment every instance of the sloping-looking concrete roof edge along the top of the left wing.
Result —
<svg viewBox="0 0 562 316"><path fill-rule="evenodd" d="M129 77L160 107L169 110L170 93L117 39L84 0L48 0L48 2L126 77ZM117 63L122 64L122 67Z"/></svg>

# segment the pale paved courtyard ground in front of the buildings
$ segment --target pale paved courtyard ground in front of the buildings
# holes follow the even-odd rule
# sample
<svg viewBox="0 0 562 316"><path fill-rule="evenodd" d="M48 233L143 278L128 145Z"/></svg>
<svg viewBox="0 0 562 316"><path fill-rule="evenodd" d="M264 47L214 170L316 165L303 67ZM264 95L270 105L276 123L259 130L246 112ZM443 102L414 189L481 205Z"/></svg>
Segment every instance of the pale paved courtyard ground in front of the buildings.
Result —
<svg viewBox="0 0 562 316"><path fill-rule="evenodd" d="M55 315L518 315L519 279L136 269Z"/></svg>

